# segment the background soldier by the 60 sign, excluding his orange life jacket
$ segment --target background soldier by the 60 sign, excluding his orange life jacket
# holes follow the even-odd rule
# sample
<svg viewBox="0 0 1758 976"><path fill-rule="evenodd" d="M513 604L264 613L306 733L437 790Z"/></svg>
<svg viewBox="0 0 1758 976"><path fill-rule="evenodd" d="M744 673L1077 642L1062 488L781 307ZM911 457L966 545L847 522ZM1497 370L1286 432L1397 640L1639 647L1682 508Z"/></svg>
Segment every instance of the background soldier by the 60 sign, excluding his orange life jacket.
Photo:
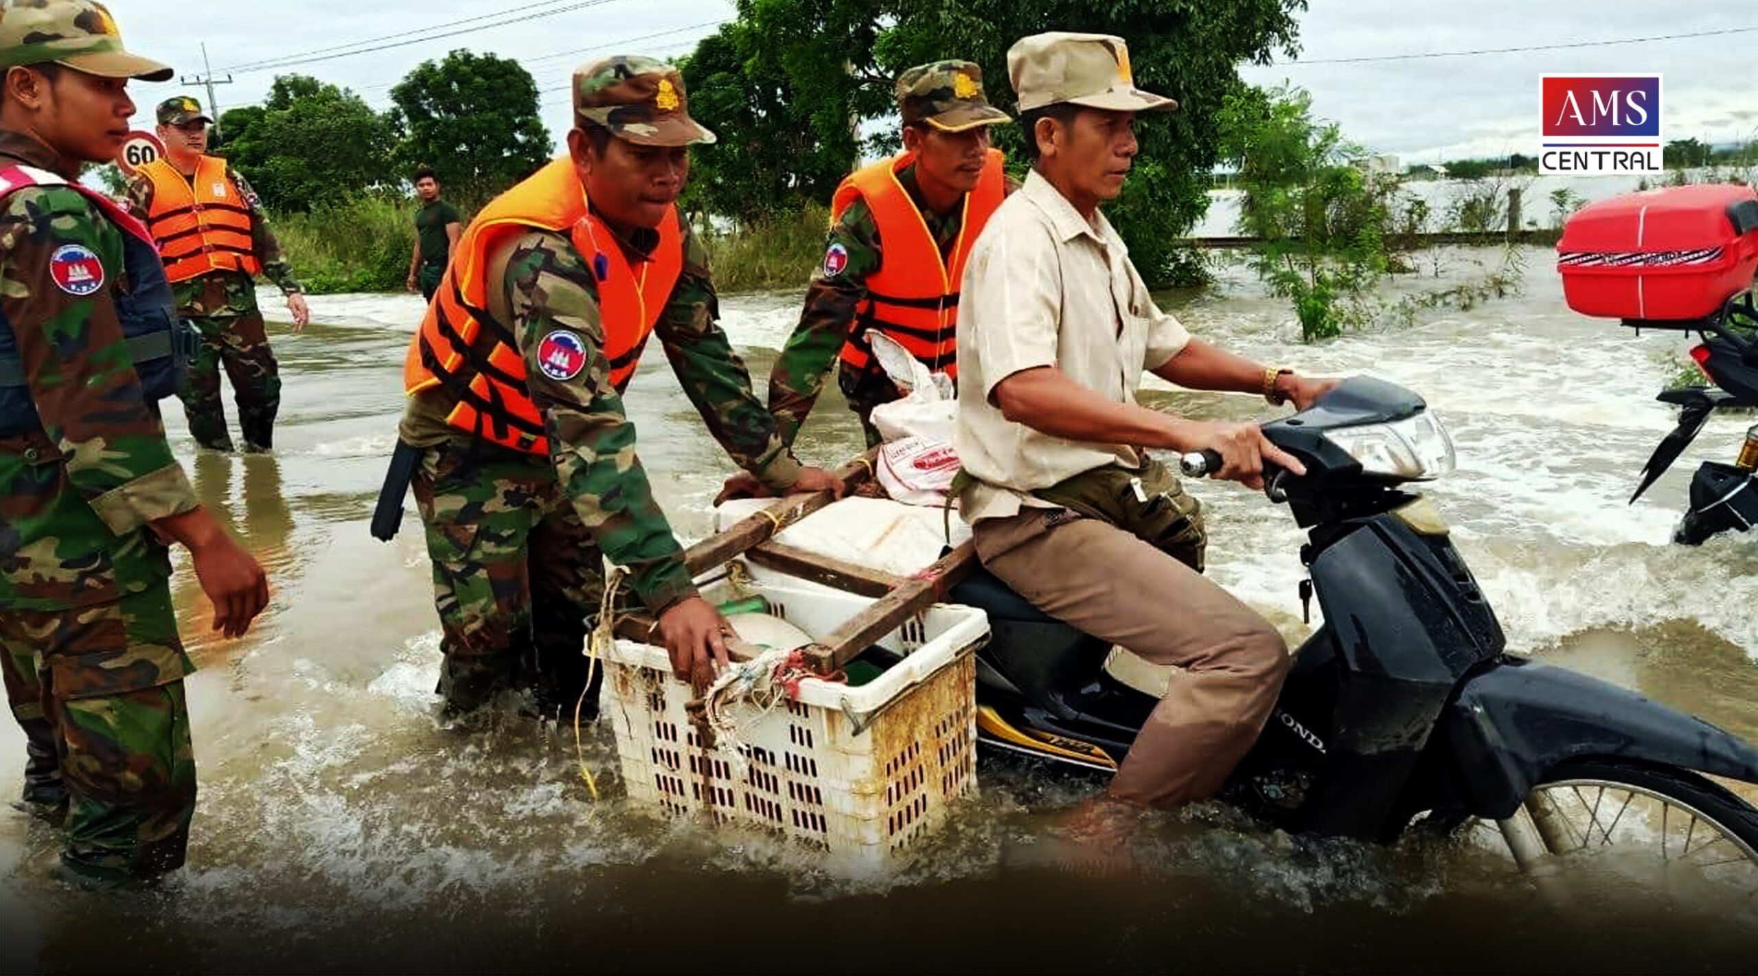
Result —
<svg viewBox="0 0 1758 976"><path fill-rule="evenodd" d="M188 95L160 102L158 137L165 142L165 158L151 167L167 167L167 174L176 172L193 183L195 167L207 148L209 123L213 120L202 114L200 104ZM304 288L294 278L292 267L281 255L280 241L269 230L262 199L230 165L225 167L225 179L250 208L250 250L262 266L262 274L287 295L287 310L294 317L294 331L297 332L311 318L311 313L306 308ZM128 204L149 223L156 216L153 213L153 186L155 181L148 167L128 179ZM156 225L155 234L158 234ZM216 269L193 278L176 278L172 274L178 315L202 334L202 348L190 364L188 383L178 394L190 422L190 436L202 447L232 450L225 404L220 399L220 369L225 368L232 380L232 396L237 401L237 426L244 434L244 450L269 450L274 441L274 415L281 408L281 373L274 362L274 352L269 348L269 334L262 310L257 308L257 287L251 276L239 269Z"/></svg>

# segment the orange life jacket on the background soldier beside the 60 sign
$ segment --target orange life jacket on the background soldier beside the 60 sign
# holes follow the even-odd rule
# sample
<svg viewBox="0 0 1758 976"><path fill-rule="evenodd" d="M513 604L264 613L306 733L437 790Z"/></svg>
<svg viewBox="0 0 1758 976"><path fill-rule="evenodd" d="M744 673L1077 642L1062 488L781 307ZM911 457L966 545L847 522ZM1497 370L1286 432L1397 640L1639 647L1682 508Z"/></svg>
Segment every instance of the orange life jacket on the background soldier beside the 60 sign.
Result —
<svg viewBox="0 0 1758 976"><path fill-rule="evenodd" d="M158 241L165 278L188 281L209 271L262 273L250 239L250 206L227 176L225 160L202 157L193 181L163 158L142 165L141 172L153 181L146 227Z"/></svg>

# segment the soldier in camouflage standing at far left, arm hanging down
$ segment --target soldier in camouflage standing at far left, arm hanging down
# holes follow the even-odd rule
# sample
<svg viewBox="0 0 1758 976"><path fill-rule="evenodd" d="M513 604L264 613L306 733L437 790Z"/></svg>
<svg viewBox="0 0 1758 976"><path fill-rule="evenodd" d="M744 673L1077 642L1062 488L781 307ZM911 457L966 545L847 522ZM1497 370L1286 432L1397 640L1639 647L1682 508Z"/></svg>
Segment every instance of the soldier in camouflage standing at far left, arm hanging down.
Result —
<svg viewBox="0 0 1758 976"><path fill-rule="evenodd" d="M125 79L171 69L128 55L95 2L11 0L0 76L0 674L21 807L65 827L63 879L128 883L183 863L195 811L167 542L227 635L267 582L165 441L176 346L146 229L70 183L120 148Z"/></svg>

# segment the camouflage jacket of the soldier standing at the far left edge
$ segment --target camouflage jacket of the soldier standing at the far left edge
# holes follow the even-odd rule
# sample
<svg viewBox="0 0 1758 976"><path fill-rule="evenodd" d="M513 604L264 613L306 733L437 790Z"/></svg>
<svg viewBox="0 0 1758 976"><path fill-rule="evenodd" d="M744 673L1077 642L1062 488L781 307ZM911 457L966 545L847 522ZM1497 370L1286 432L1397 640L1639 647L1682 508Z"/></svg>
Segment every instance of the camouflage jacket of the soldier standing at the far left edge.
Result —
<svg viewBox="0 0 1758 976"><path fill-rule="evenodd" d="M18 132L0 134L0 164L77 174ZM0 310L42 420L0 438L0 608L62 610L165 579L165 550L142 529L197 506L116 317L121 234L69 186L0 204ZM49 264L67 246L95 253L111 287L60 288Z"/></svg>

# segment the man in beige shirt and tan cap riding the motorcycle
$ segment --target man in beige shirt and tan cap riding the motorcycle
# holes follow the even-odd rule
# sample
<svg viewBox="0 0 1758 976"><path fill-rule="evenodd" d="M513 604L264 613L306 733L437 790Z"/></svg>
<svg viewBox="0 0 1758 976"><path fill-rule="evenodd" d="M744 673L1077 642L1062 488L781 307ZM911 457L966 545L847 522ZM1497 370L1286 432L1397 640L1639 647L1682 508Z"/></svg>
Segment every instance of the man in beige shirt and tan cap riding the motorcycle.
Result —
<svg viewBox="0 0 1758 976"><path fill-rule="evenodd" d="M1195 503L1144 448L1218 450L1222 478L1301 471L1257 424L1136 403L1141 375L1306 408L1334 382L1264 368L1160 311L1099 204L1123 190L1141 111L1120 37L1039 33L1007 51L1032 172L977 241L960 297L960 510L983 566L1037 608L1178 665L1111 781L1127 804L1210 797L1289 668L1276 630L1204 579Z"/></svg>

